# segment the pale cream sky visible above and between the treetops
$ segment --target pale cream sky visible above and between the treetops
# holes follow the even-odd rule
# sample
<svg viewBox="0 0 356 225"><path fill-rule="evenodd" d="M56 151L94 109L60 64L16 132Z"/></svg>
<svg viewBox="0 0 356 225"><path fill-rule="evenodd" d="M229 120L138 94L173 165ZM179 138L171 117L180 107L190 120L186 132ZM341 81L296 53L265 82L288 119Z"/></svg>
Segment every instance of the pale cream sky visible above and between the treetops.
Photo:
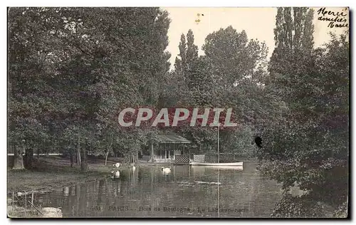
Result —
<svg viewBox="0 0 356 225"><path fill-rule="evenodd" d="M169 13L171 23L168 30L169 45L167 51L172 56L170 58L171 68L174 67L174 60L179 54L179 41L182 33L187 35L189 29L194 33L194 43L199 48L199 55L204 53L201 46L209 33L218 31L220 28L233 26L236 31L246 31L248 39L258 39L266 42L268 47L268 58L271 57L274 48L273 28L276 26L277 8L162 8ZM318 20L320 8L314 8L314 42L315 47L322 46L329 40L328 32L342 33L345 28L328 28L328 21ZM348 11L345 8L326 8L325 11L337 12ZM345 11L346 10L346 11ZM200 14L198 16L198 14ZM202 16L204 14L204 16ZM325 15L328 16L328 15ZM328 16L335 18L335 16ZM200 21L197 23L197 19Z"/></svg>

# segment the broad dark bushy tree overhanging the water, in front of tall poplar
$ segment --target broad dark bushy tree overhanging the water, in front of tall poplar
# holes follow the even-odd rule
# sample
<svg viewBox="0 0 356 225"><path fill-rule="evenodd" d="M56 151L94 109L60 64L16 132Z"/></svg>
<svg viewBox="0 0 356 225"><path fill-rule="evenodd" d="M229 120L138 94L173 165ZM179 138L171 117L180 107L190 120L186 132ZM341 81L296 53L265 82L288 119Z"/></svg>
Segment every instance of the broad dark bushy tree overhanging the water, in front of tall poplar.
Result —
<svg viewBox="0 0 356 225"><path fill-rule="evenodd" d="M282 182L286 190L276 216L325 216L312 215L308 209L320 202L337 209L347 202L347 35L332 35L325 48L315 49L309 57L302 66L300 61L286 65L285 82L277 80L277 87L288 99L290 113L283 120L268 122L263 130L259 155L268 162L261 171ZM288 196L295 185L305 191L302 199ZM299 203L292 207L290 201ZM302 207L306 211L301 212Z"/></svg>

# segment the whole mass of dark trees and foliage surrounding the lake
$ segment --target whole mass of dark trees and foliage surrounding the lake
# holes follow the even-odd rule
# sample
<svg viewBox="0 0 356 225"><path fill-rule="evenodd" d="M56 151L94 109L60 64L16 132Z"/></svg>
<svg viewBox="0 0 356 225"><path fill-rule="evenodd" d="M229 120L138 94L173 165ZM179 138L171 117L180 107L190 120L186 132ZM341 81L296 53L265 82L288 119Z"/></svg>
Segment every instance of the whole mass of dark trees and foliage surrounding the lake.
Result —
<svg viewBox="0 0 356 225"><path fill-rule="evenodd" d="M313 9L278 8L276 48L232 26L206 36L199 56L182 34L174 69L167 11L158 8L10 8L8 146L22 150L130 158L172 130L191 148L216 151L216 128L126 129L127 107L233 108L236 129L221 127L220 151L263 160L283 184L274 216L336 216L347 207L348 33L314 48ZM146 127L147 128L147 127ZM251 145L255 135L262 147ZM81 161L81 163L80 163ZM27 164L28 166L28 164ZM31 164L30 164L31 166ZM303 196L289 190L299 187Z"/></svg>

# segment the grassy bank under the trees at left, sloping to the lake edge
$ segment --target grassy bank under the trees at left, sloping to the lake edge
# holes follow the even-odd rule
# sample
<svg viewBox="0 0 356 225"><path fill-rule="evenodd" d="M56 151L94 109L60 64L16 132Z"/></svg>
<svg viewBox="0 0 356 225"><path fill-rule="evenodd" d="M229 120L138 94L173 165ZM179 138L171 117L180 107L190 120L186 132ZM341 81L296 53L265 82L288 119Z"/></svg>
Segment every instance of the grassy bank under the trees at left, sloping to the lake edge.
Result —
<svg viewBox="0 0 356 225"><path fill-rule="evenodd" d="M88 159L88 172L81 172L80 166L70 167L70 162L62 157L40 157L33 169L7 170L8 192L28 190L52 190L82 182L108 177L112 164L105 166L102 159ZM124 166L125 167L125 166Z"/></svg>

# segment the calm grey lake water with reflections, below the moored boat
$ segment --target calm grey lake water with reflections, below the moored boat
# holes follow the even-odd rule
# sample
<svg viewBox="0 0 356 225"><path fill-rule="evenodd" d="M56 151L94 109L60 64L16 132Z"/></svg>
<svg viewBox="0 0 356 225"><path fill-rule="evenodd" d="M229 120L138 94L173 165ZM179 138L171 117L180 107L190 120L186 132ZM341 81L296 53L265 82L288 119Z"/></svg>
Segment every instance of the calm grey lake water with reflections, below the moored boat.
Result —
<svg viewBox="0 0 356 225"><path fill-rule="evenodd" d="M36 200L61 207L63 217L269 217L281 185L256 166L177 165L168 174L158 166L136 167L120 171L119 179L65 187Z"/></svg>

